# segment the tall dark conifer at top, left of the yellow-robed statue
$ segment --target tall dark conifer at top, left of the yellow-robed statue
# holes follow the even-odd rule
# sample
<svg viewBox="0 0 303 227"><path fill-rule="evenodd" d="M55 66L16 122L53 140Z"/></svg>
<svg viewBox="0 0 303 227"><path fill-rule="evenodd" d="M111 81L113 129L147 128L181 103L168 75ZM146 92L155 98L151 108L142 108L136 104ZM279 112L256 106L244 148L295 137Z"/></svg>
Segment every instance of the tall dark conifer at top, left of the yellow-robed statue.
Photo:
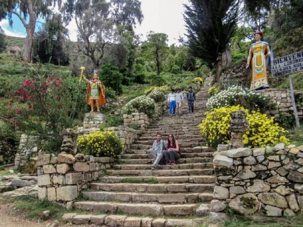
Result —
<svg viewBox="0 0 303 227"><path fill-rule="evenodd" d="M239 1L189 0L184 5L188 47L193 56L216 66L216 78L222 66L231 64L229 40L236 31Z"/></svg>

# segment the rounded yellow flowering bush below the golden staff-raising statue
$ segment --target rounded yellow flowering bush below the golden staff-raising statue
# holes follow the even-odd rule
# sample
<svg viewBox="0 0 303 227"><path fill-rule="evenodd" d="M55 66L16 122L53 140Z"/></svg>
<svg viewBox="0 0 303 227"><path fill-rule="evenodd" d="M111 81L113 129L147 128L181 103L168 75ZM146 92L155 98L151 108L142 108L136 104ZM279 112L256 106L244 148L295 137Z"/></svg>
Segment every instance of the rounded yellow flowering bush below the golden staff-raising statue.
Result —
<svg viewBox="0 0 303 227"><path fill-rule="evenodd" d="M82 153L96 157L115 157L122 152L123 144L115 132L95 131L78 137L77 146Z"/></svg>

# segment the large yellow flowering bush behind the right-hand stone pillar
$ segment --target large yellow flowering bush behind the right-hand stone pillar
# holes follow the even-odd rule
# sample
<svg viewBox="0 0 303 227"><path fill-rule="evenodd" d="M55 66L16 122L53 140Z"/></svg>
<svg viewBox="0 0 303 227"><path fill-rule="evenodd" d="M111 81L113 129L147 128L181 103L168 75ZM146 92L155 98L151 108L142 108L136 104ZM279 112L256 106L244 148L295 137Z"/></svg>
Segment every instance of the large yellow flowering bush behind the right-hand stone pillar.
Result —
<svg viewBox="0 0 303 227"><path fill-rule="evenodd" d="M206 113L206 118L199 125L201 134L205 137L208 146L216 148L218 144L230 142L230 113L244 110L247 115L248 127L243 135L243 143L249 147L264 147L270 144L289 144L285 137L287 131L274 123L273 118L268 118L259 111L251 111L242 106L224 106Z"/></svg>

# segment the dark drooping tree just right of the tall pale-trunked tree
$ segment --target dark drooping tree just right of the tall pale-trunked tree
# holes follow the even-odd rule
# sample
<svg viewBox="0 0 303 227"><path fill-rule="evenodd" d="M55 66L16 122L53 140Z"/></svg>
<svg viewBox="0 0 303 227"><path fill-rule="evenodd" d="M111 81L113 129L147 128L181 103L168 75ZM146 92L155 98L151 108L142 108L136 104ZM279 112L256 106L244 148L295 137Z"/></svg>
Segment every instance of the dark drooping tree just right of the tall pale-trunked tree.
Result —
<svg viewBox="0 0 303 227"><path fill-rule="evenodd" d="M69 57L64 48L67 36L68 30L63 25L61 14L48 17L42 29L35 33L33 60L55 65L68 65Z"/></svg>

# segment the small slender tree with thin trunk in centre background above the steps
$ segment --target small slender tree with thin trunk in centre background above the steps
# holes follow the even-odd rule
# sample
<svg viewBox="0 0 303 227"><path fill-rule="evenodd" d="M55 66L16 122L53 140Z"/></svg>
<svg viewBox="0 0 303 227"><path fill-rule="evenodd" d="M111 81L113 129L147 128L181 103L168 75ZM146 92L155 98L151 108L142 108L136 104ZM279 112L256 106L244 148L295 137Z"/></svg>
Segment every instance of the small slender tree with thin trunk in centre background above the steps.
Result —
<svg viewBox="0 0 303 227"><path fill-rule="evenodd" d="M168 36L165 33L155 33L150 31L147 35L146 50L147 54L150 55L151 59L156 64L157 67L157 76L158 76L158 85L160 84L160 71L161 64L164 61L164 57L167 50Z"/></svg>

